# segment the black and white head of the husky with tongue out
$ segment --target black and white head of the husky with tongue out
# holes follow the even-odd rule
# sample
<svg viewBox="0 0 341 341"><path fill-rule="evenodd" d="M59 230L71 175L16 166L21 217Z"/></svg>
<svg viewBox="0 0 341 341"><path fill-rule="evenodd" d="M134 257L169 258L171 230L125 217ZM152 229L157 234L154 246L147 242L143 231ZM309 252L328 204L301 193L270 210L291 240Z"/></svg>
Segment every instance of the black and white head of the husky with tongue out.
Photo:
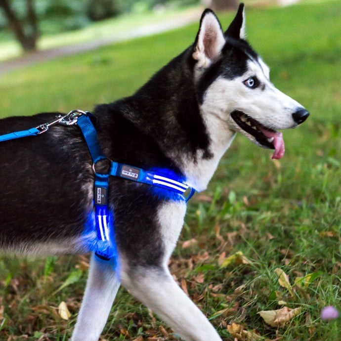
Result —
<svg viewBox="0 0 341 341"><path fill-rule="evenodd" d="M269 68L245 40L243 4L225 33L213 11L204 11L192 57L206 120L220 120L225 129L275 149L273 158L280 159L284 141L277 130L297 127L309 113L270 82Z"/></svg>

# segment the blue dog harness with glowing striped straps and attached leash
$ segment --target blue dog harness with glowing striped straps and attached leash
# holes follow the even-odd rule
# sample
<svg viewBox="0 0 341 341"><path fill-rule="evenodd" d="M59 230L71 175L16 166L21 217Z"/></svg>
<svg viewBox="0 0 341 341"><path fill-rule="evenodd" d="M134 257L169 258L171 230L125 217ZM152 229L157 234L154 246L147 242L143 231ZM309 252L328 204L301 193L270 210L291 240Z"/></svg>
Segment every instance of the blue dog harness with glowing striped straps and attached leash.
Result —
<svg viewBox="0 0 341 341"><path fill-rule="evenodd" d="M116 254L116 245L113 233L113 219L108 207L109 176L122 177L124 179L170 190L181 195L186 202L193 196L195 189L190 188L190 193L187 198L185 198L183 194L189 189L189 186L182 180L170 178L168 174L162 172L146 171L142 168L114 162L105 157L101 151L97 132L90 120L90 116L91 114L89 112L73 110L65 116L57 115L53 121L44 123L38 127L1 135L0 142L26 136L37 136L56 124L62 124L64 126L78 125L90 152L93 162L92 170L95 176L94 208L98 239L95 255L101 259L110 260L110 258ZM96 170L100 164L104 164L104 166L106 164L107 170Z"/></svg>

